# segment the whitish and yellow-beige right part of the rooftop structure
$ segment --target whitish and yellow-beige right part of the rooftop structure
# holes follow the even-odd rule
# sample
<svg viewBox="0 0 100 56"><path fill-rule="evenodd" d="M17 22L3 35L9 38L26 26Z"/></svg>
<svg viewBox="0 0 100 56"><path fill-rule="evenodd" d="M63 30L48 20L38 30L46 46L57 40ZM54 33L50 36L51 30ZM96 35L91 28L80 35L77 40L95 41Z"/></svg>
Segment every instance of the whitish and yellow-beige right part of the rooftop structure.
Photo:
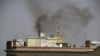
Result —
<svg viewBox="0 0 100 56"><path fill-rule="evenodd" d="M41 47L59 47L57 43L64 43L64 35L51 35L46 39L41 39Z"/></svg>

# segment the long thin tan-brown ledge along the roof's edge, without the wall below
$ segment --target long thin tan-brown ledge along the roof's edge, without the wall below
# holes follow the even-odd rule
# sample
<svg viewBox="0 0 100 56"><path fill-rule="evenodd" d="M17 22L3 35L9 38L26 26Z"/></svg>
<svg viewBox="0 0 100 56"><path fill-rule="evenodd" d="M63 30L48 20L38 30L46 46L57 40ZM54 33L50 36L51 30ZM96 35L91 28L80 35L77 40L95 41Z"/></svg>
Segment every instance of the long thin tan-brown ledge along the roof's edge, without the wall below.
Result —
<svg viewBox="0 0 100 56"><path fill-rule="evenodd" d="M67 47L16 47L5 51L56 51L56 52L89 52L93 48L67 48Z"/></svg>

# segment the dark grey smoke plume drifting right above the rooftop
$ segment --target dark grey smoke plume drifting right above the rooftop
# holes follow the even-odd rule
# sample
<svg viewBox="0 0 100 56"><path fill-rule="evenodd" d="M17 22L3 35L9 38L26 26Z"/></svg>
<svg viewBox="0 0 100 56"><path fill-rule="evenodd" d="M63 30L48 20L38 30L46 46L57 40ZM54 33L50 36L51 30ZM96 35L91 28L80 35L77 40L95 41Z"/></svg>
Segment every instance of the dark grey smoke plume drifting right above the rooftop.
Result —
<svg viewBox="0 0 100 56"><path fill-rule="evenodd" d="M71 28L72 25L85 27L92 18L89 8L79 8L75 5L64 6L52 14L51 17L48 16L47 14L43 14L38 17L35 25L37 30L41 29L47 35L55 34L58 25L63 28L63 31Z"/></svg>

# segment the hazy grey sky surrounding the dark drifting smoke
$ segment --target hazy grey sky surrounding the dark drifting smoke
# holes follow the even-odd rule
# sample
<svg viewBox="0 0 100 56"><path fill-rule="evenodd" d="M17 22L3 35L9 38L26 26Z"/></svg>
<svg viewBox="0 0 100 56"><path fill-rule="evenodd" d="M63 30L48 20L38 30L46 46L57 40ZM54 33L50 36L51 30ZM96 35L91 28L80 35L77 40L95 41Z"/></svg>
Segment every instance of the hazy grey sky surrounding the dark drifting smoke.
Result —
<svg viewBox="0 0 100 56"><path fill-rule="evenodd" d="M27 0L3 0L0 2L0 55L4 56L6 41L12 40L17 33L35 35L34 29L37 17L46 13L51 17L64 4L76 4L80 8L89 7L93 18L86 27L71 24L71 30L61 30L66 35L67 42L81 45L86 39L100 41L100 6L99 0L32 0L33 6ZM31 10L30 10L31 9ZM75 22L75 21L70 21ZM78 21L76 21L78 22ZM62 25L62 24L61 24ZM73 26L74 25L74 26ZM62 27L62 29L65 29ZM53 30L53 29L52 29ZM75 34L75 30L79 33ZM67 32L64 32L67 31ZM18 34L17 38L26 40L26 36ZM3 53L3 54L1 54Z"/></svg>

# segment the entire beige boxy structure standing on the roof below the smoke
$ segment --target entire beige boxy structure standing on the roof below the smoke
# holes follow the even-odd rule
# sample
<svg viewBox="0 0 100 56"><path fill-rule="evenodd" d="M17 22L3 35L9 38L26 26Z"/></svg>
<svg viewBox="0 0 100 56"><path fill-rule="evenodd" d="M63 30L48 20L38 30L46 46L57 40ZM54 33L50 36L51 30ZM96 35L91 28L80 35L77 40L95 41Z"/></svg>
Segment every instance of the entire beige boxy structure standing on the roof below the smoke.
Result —
<svg viewBox="0 0 100 56"><path fill-rule="evenodd" d="M51 35L50 37L39 38L39 37L28 37L28 47L59 47L57 43L64 43L64 35Z"/></svg>

